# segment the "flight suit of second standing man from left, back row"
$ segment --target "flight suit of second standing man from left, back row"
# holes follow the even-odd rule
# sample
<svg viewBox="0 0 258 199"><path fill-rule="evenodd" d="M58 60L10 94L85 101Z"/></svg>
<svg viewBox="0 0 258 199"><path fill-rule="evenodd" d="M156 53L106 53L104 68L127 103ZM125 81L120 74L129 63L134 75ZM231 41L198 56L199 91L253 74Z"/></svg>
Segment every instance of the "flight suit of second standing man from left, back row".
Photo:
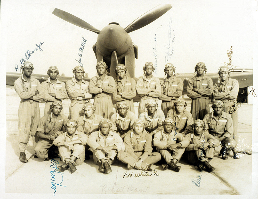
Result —
<svg viewBox="0 0 258 199"><path fill-rule="evenodd" d="M49 112L52 102L62 101L63 99L66 99L67 92L65 88L65 83L59 81L58 79L57 82L53 84L50 82L50 78L48 78L46 81L41 83L41 86L45 90L44 101L46 101L46 103L44 115L46 115ZM55 93L55 97L50 96L49 93ZM63 109L61 110L61 113L63 113Z"/></svg>

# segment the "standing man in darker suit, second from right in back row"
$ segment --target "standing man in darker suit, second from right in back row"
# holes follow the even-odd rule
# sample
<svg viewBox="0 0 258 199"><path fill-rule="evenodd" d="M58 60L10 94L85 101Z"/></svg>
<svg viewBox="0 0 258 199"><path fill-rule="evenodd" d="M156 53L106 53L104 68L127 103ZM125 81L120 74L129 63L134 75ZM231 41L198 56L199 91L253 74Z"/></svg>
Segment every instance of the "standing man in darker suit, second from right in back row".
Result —
<svg viewBox="0 0 258 199"><path fill-rule="evenodd" d="M193 121L197 119L203 120L204 116L209 113L207 105L209 96L213 92L213 82L211 78L204 75L206 71L205 64L198 62L195 66L194 76L188 82L187 96L192 99L191 113Z"/></svg>

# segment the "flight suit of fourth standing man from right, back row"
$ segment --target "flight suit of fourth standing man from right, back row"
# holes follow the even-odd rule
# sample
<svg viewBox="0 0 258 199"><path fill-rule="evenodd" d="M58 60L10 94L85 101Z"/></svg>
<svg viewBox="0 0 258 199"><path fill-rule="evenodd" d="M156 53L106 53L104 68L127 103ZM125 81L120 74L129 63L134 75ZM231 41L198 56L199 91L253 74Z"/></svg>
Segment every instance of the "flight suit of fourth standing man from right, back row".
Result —
<svg viewBox="0 0 258 199"><path fill-rule="evenodd" d="M150 89L155 89L155 91L151 91ZM146 76L143 75L136 83L136 91L141 96L139 103L140 115L141 113L147 111L145 104L149 99L155 99L156 102L158 102L158 97L161 94L159 78L152 76L151 80L147 80Z"/></svg>

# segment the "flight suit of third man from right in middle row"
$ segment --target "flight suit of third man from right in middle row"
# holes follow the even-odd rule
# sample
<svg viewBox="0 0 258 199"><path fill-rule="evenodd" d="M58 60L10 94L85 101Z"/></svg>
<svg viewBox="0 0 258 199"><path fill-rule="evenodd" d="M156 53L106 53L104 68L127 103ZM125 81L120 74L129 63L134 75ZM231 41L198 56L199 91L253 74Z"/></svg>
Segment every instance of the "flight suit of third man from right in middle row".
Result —
<svg viewBox="0 0 258 199"><path fill-rule="evenodd" d="M163 129L162 122L165 120L165 116L164 116L163 111L158 109L158 110L156 110L153 118L150 119L150 117L148 115L148 110L147 110L147 112L141 113L141 115L139 116L139 119L144 121L145 130L148 133L155 134L156 132Z"/></svg>

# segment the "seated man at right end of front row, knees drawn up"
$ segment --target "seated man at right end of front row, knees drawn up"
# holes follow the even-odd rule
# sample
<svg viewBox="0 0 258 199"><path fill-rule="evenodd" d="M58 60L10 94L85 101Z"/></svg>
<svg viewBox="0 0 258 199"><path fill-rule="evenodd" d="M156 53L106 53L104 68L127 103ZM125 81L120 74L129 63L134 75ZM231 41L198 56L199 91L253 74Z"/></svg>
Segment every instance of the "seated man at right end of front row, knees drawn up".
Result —
<svg viewBox="0 0 258 199"><path fill-rule="evenodd" d="M197 165L197 169L202 171L205 167L207 172L215 170L208 161L213 158L215 147L219 146L220 142L208 132L204 133L203 120L197 119L193 123L193 132L187 134L184 138L189 140L189 145L186 147L187 160L192 165Z"/></svg>

